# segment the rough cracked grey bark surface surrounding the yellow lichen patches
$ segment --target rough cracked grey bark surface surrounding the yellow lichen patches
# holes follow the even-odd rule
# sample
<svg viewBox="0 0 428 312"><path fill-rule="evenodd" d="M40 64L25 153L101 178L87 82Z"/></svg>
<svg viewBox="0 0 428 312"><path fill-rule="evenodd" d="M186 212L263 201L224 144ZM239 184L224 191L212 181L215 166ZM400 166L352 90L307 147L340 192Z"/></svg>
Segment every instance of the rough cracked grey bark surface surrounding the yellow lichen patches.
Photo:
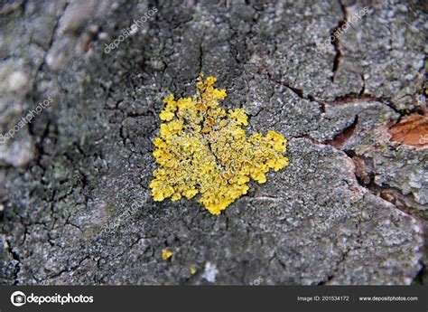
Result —
<svg viewBox="0 0 428 312"><path fill-rule="evenodd" d="M2 133L52 99L0 144L0 283L427 283L425 2L16 1L0 29ZM219 216L148 187L162 99L200 71L289 139Z"/></svg>

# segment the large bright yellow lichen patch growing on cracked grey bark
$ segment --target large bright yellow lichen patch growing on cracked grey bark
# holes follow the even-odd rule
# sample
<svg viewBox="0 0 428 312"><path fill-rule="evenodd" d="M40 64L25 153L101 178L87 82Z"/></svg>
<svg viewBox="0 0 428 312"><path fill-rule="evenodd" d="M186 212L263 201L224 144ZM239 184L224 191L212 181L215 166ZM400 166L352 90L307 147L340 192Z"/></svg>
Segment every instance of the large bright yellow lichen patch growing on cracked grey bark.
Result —
<svg viewBox="0 0 428 312"><path fill-rule="evenodd" d="M264 137L247 137L244 109L225 109L219 99L226 90L214 88L216 78L200 77L191 98L164 99L159 137L154 139L154 157L159 165L151 182L154 201L200 193L209 213L219 214L238 197L247 194L250 178L265 183L265 174L288 165L286 139L268 131Z"/></svg>

